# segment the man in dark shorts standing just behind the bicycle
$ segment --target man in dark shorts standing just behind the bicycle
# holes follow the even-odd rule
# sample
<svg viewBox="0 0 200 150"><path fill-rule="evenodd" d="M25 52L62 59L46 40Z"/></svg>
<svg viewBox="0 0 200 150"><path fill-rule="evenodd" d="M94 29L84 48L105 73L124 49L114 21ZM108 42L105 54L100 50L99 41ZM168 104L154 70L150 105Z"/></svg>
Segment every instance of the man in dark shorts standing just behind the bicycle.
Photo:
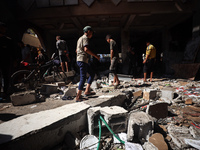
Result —
<svg viewBox="0 0 200 150"><path fill-rule="evenodd" d="M58 49L58 55L59 55L62 71L65 72L65 67L66 67L66 71L68 72L69 71L68 62L70 61L69 51L68 51L66 41L61 40L60 36L56 36L56 48Z"/></svg>

